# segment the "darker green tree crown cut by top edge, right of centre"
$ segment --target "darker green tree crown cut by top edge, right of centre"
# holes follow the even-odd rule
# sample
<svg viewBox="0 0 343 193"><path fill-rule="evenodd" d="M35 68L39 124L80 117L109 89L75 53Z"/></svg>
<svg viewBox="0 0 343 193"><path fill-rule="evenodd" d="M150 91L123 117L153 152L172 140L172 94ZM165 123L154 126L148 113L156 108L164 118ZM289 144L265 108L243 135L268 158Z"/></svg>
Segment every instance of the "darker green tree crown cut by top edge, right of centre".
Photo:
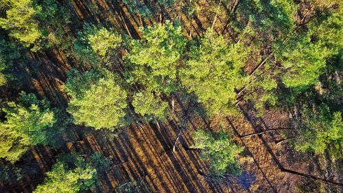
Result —
<svg viewBox="0 0 343 193"><path fill-rule="evenodd" d="M282 41L295 27L295 15L298 5L293 1L240 1L233 28L243 34L250 30L250 39L263 45Z"/></svg>

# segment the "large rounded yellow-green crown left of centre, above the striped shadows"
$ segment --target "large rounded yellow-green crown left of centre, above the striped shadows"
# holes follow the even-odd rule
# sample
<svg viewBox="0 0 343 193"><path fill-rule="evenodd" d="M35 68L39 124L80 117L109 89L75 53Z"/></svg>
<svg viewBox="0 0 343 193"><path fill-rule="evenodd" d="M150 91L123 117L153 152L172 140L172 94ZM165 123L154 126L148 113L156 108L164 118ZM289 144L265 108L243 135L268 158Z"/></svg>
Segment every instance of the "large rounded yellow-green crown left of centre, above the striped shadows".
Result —
<svg viewBox="0 0 343 193"><path fill-rule="evenodd" d="M93 126L95 129L126 124L126 91L119 78L104 70L87 71L84 74L72 70L64 89L71 96L67 111L75 124Z"/></svg>

